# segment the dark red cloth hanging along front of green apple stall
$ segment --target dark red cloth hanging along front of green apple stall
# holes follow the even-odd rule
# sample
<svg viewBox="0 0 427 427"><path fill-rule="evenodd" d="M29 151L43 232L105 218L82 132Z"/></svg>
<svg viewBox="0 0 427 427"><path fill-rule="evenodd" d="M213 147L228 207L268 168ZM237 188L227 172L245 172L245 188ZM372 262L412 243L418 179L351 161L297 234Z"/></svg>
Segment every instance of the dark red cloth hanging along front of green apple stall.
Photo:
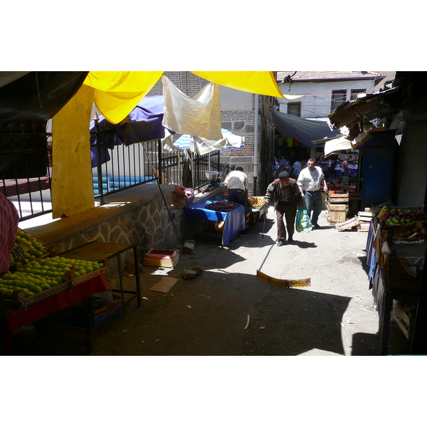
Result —
<svg viewBox="0 0 427 427"><path fill-rule="evenodd" d="M79 283L72 288L51 295L21 310L6 310L6 325L4 329L6 353L11 354L11 339L19 327L41 320L52 312L58 312L75 305L98 292L107 292L107 282L104 275Z"/></svg>

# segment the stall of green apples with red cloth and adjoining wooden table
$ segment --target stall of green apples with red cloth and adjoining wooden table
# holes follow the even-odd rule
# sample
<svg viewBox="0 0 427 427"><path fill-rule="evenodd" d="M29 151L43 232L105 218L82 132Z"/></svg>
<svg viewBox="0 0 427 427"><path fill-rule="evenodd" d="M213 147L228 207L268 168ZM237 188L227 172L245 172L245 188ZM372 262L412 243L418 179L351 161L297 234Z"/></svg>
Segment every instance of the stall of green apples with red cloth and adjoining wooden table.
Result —
<svg viewBox="0 0 427 427"><path fill-rule="evenodd" d="M9 272L0 278L0 293L6 303L3 331L6 352L11 354L12 339L19 327L83 300L90 352L95 323L99 325L116 312L123 313L124 306L134 298L137 298L138 307L141 305L139 275L135 275L136 290L124 290L122 283L121 255L132 250L135 265L138 265L136 244L93 241L57 255L53 247L18 228L9 258ZM112 292L120 292L121 297L111 294L111 304L105 302L105 313L97 316L95 322L93 297L107 292L105 273L112 258L117 258L120 272L120 289ZM125 300L125 293L132 297Z"/></svg>

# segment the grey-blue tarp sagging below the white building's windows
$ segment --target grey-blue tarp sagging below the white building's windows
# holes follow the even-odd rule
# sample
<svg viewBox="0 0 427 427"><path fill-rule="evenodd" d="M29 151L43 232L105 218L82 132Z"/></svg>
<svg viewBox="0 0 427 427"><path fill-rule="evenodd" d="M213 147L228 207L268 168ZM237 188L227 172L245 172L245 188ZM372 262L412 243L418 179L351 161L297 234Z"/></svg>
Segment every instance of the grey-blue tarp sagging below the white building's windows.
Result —
<svg viewBox="0 0 427 427"><path fill-rule="evenodd" d="M337 137L339 130L331 130L327 122L322 120L303 119L285 112L272 110L275 128L286 137L295 138L302 144L318 147L313 141L325 137Z"/></svg>

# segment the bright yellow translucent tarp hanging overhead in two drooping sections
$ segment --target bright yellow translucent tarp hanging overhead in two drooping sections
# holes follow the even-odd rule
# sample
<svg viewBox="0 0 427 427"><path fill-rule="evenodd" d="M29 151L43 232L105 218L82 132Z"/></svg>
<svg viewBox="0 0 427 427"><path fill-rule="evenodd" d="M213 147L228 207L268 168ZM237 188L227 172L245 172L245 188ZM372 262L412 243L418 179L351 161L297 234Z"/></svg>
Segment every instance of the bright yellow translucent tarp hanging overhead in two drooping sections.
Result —
<svg viewBox="0 0 427 427"><path fill-rule="evenodd" d="M95 88L95 105L111 123L120 123L149 93L163 71L90 71L84 84ZM191 71L218 85L284 97L271 71Z"/></svg>

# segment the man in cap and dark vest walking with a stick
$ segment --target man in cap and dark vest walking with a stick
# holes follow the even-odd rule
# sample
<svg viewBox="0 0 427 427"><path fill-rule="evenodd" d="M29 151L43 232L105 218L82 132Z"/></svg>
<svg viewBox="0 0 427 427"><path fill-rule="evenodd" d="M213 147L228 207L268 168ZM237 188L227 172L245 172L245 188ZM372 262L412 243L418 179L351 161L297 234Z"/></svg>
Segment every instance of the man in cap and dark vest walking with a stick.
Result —
<svg viewBox="0 0 427 427"><path fill-rule="evenodd" d="M286 231L288 231L288 242L292 243L295 231L295 215L297 214L297 206L301 205L302 196L297 181L290 178L288 172L280 172L278 179L275 179L267 187L265 202L269 204L270 200L274 200L274 210L278 223L277 246L283 246L286 243ZM286 227L283 218L286 220Z"/></svg>

